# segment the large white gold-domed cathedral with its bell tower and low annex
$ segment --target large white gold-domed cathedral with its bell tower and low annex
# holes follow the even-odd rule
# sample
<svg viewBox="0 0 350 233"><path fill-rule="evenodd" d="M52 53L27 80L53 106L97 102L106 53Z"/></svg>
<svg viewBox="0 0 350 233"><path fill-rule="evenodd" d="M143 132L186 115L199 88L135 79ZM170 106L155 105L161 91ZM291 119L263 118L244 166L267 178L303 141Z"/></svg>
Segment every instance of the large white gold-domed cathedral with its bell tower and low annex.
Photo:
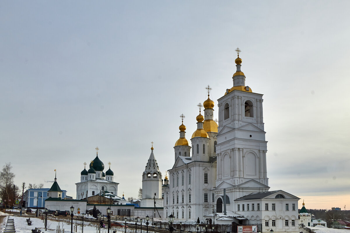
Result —
<svg viewBox="0 0 350 233"><path fill-rule="evenodd" d="M169 179L165 177L162 185L163 217L172 213L179 221L215 218L215 223L229 220L261 224L262 232L270 229L299 232L300 198L282 190L269 191L262 94L252 92L245 85L240 50L236 51L233 87L218 99L219 125L214 121L209 86L208 99L203 103L204 116L202 105L198 104L197 130L191 136L191 143L185 137L186 126L181 115L174 165L168 170ZM158 166L148 162L149 173L146 167L142 181L150 179L146 173L160 179ZM159 187L155 190L159 194Z"/></svg>

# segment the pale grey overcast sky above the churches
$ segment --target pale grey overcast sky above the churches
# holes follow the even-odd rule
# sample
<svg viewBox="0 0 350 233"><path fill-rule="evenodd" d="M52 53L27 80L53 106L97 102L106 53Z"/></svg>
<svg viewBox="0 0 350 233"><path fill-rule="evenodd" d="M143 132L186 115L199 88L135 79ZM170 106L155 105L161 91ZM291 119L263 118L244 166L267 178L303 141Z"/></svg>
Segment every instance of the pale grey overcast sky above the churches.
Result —
<svg viewBox="0 0 350 233"><path fill-rule="evenodd" d="M350 208L349 1L2 1L0 166L76 197L83 163L112 163L137 197L151 153L163 175L184 114L212 87L264 94L270 190L308 209ZM164 176L163 176L164 177Z"/></svg>

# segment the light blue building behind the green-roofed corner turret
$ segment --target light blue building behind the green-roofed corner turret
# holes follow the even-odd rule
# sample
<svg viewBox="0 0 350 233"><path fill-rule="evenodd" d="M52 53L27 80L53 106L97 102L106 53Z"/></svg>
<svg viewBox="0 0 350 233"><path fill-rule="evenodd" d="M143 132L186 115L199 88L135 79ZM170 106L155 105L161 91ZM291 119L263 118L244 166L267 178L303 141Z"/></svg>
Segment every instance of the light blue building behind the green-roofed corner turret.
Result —
<svg viewBox="0 0 350 233"><path fill-rule="evenodd" d="M49 188L41 189L27 189L24 193L24 201L26 201L26 208L36 208L36 203L38 208L45 208L45 199L49 197ZM62 199L66 196L66 190L62 190Z"/></svg>

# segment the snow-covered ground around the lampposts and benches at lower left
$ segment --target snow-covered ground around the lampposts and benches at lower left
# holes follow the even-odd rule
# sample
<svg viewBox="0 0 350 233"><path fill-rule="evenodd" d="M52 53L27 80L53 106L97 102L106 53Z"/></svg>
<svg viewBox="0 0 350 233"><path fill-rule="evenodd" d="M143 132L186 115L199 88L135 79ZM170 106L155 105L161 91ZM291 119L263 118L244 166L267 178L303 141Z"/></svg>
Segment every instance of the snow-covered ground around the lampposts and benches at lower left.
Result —
<svg viewBox="0 0 350 233"><path fill-rule="evenodd" d="M35 227L40 229L42 232L56 233L56 229L57 229L58 225L60 226L61 229L64 229L65 233L70 233L70 231L71 231L71 225L67 224L67 221L68 221L67 219L57 218L55 216L48 216L47 231L45 231L45 225L43 223L43 220L41 220L41 218L35 218L33 216L28 216L27 214L25 214L26 216L24 216L22 214L22 216L20 217L20 216L15 216L13 214L10 215L8 213L0 212L0 215L4 215L4 214L6 215L6 217L3 218L3 221L0 225L0 232L2 232L2 229L5 228L8 217L14 219L16 233L30 233L31 229L34 229ZM28 226L28 224L27 224L26 219L28 217L30 217L30 220L32 221L31 226ZM128 222L126 222L126 223L128 224ZM131 224L133 224L133 223L131 223ZM75 226L77 226L77 232L81 233L82 232L82 221L73 220L73 229ZM146 226L142 226L142 230L145 231ZM125 232L125 228L111 227L110 232L113 232L113 231L123 233L123 232ZM75 232L75 231L73 230L73 232ZM107 228L105 228L105 229L101 228L100 232L107 233ZM135 229L126 228L126 232L127 233L135 233ZM148 232L154 233L153 231L148 231ZM62 233L63 233L63 230L62 230ZM84 233L99 233L98 228L96 228L96 223L89 223L89 222L84 221ZM138 229L137 233L140 233L140 229Z"/></svg>

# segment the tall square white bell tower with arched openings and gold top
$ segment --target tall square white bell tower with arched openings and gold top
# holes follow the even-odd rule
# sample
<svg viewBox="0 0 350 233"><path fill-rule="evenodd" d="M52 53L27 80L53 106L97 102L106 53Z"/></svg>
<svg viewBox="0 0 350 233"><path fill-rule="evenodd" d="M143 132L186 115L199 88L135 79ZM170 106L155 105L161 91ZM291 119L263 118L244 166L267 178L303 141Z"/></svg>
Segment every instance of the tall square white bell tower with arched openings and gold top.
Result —
<svg viewBox="0 0 350 233"><path fill-rule="evenodd" d="M233 87L218 99L216 185L223 181L238 185L252 179L268 185L262 94L245 85L241 51L237 48L236 52Z"/></svg>

